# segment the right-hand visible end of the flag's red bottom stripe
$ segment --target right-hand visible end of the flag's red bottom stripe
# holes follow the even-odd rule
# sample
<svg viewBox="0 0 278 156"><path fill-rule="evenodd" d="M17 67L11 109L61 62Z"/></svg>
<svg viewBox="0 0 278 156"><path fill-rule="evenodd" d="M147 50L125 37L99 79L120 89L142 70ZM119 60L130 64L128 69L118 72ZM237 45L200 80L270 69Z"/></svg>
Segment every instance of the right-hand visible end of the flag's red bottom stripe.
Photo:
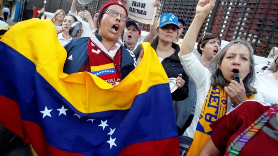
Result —
<svg viewBox="0 0 278 156"><path fill-rule="evenodd" d="M170 150L169 150L170 149ZM179 156L178 137L148 142L139 142L122 149L119 156Z"/></svg>

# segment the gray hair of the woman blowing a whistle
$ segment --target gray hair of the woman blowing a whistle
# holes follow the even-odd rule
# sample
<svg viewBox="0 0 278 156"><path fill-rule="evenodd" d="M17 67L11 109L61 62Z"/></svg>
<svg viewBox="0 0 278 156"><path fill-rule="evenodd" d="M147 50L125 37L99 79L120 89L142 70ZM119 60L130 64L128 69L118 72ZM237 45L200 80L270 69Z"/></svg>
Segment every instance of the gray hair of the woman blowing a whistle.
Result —
<svg viewBox="0 0 278 156"><path fill-rule="evenodd" d="M243 44L243 45L247 46L247 48L250 51L250 68L251 68L251 71L250 71L249 74L247 74L245 79L243 79L243 83L244 83L245 90L246 90L246 95L250 96L252 94L257 93L255 88L253 88L253 86L250 86L252 84L253 80L255 79L255 67L254 67L255 63L254 63L254 56L253 56L254 55L253 54L254 49L253 49L252 45L250 45L250 43L248 43L245 40L236 39L236 40L231 41L220 52L218 52L218 54L212 59L212 61L210 62L210 64L207 67L212 73L212 75L211 75L211 85L213 87L216 87L217 85L220 85L220 87L227 86L227 82L226 82L221 70L218 68L218 65L221 64L221 62L224 58L224 55L226 54L228 49L234 44Z"/></svg>

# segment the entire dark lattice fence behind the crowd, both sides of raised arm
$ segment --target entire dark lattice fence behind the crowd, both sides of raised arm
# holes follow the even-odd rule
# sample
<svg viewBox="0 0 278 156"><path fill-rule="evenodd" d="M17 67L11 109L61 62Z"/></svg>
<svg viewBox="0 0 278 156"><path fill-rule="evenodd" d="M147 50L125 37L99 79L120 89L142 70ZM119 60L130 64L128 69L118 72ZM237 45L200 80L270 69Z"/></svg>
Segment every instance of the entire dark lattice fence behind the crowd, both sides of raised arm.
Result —
<svg viewBox="0 0 278 156"><path fill-rule="evenodd" d="M42 7L44 0L29 0L27 8ZM88 5L93 14L107 0L95 0ZM63 9L69 12L72 0L48 0L46 11ZM172 13L185 19L183 35L194 16L198 0L161 0L159 14ZM84 5L77 5L77 11ZM199 37L204 32L218 33L221 39L231 41L237 38L248 40L255 49L255 55L267 57L271 48L278 43L278 0L216 0L215 9L207 16ZM149 31L149 25L140 23L142 30ZM198 38L196 40L198 40Z"/></svg>

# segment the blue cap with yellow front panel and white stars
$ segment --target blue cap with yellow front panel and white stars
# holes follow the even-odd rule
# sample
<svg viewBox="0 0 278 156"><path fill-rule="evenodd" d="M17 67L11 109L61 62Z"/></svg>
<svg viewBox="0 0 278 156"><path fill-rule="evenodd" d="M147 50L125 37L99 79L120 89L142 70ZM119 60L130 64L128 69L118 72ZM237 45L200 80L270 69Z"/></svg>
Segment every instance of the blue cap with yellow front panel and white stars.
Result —
<svg viewBox="0 0 278 156"><path fill-rule="evenodd" d="M168 24L173 24L175 26L177 26L178 29L180 29L179 25L178 25L178 18L175 17L175 15L173 14L162 14L160 15L159 19L157 20L157 27L156 28L161 28L164 25L168 25Z"/></svg>

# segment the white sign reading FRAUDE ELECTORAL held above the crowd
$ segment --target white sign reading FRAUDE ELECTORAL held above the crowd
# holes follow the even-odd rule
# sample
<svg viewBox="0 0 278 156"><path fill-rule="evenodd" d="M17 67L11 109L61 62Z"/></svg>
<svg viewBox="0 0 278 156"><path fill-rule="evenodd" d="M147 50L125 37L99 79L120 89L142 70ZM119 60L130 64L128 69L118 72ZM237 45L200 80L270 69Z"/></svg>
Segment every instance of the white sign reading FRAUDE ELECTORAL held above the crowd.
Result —
<svg viewBox="0 0 278 156"><path fill-rule="evenodd" d="M127 0L125 4L128 17L141 23L154 23L157 7L154 7L154 0Z"/></svg>

